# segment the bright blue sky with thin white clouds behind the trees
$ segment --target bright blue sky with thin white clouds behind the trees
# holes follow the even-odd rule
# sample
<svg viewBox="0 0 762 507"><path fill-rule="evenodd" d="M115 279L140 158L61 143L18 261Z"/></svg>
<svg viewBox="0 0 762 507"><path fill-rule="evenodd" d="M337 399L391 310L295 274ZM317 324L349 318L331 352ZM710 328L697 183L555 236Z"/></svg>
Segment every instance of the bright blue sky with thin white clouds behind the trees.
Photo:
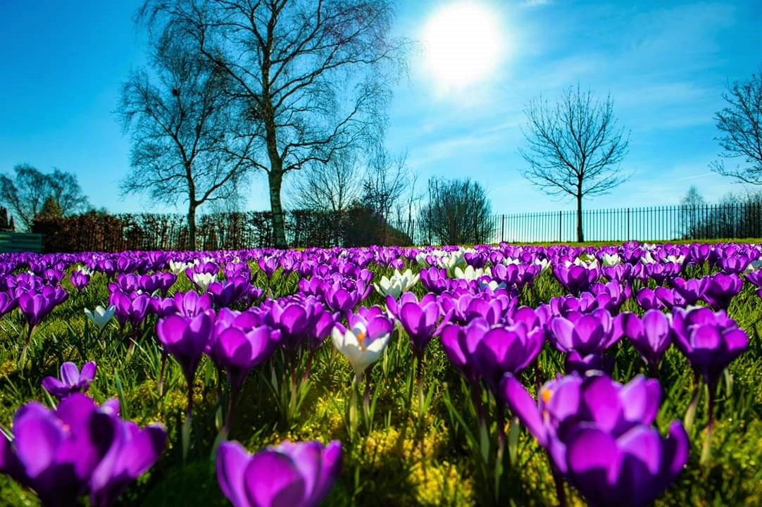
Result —
<svg viewBox="0 0 762 507"><path fill-rule="evenodd" d="M453 83L432 66L427 30L463 3L490 14L500 50L479 79ZM114 109L130 69L146 63L138 5L0 0L0 172L22 162L60 168L77 175L94 207L173 210L119 192L130 140ZM495 213L572 209L521 178L518 149L527 102L553 101L577 83L610 94L629 132L622 168L632 174L585 207L677 204L691 185L709 201L744 190L709 170L719 153L712 117L728 83L762 66L758 0L400 0L393 30L421 43L394 85L386 147L407 152L421 190L432 176L469 177L485 186ZM269 207L264 176L243 194L249 209Z"/></svg>

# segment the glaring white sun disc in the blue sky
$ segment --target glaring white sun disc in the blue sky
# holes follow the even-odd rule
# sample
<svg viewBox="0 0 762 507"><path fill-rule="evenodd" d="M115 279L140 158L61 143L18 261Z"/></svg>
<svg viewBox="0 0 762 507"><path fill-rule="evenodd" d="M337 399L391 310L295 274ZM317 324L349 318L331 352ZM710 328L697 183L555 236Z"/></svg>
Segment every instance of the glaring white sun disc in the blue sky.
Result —
<svg viewBox="0 0 762 507"><path fill-rule="evenodd" d="M423 31L424 58L437 83L465 88L495 71L504 53L497 18L478 2L452 3L431 15Z"/></svg>

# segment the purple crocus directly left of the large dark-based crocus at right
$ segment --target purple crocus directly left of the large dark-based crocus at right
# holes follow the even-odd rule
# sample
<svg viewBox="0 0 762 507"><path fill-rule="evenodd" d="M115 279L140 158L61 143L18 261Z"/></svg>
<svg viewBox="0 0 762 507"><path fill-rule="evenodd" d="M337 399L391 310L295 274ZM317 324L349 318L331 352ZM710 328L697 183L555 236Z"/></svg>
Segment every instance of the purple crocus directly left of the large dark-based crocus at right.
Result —
<svg viewBox="0 0 762 507"><path fill-rule="evenodd" d="M659 310L648 310L642 317L628 312L616 316L613 326L613 335L626 336L655 375L671 344L668 316Z"/></svg>

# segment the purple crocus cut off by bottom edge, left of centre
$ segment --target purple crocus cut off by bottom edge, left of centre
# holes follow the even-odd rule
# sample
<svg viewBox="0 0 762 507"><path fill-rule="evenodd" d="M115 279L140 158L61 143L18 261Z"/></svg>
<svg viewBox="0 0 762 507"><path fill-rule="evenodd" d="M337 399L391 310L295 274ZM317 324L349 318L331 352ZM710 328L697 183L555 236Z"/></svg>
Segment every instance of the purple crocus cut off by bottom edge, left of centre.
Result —
<svg viewBox="0 0 762 507"><path fill-rule="evenodd" d="M285 441L253 456L220 444L217 482L233 507L317 507L341 473L341 443Z"/></svg>

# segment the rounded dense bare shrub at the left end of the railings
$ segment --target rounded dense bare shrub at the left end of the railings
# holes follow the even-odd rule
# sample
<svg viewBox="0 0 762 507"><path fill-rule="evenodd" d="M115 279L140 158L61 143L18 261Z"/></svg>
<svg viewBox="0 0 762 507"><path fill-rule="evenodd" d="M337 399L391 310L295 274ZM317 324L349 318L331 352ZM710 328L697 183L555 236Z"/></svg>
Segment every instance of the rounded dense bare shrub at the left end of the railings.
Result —
<svg viewBox="0 0 762 507"><path fill-rule="evenodd" d="M429 194L421 220L434 242L459 245L485 241L491 204L482 185L469 178L433 178L429 180Z"/></svg>

